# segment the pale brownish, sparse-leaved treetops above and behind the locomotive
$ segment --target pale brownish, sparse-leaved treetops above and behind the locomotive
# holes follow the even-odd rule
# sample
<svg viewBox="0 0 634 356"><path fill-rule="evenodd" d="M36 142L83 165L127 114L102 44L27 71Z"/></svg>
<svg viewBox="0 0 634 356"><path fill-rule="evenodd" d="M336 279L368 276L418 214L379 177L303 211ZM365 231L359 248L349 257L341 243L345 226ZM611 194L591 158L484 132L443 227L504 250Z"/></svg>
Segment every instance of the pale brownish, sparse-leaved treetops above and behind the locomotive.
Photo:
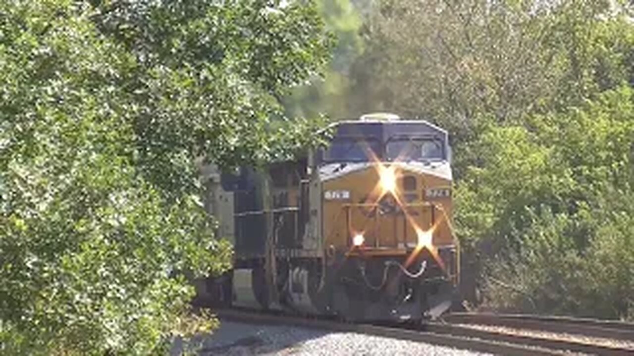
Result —
<svg viewBox="0 0 634 356"><path fill-rule="evenodd" d="M413 25L416 24L416 25ZM481 120L578 105L631 78L631 22L607 2L382 1L350 99L471 141Z"/></svg>

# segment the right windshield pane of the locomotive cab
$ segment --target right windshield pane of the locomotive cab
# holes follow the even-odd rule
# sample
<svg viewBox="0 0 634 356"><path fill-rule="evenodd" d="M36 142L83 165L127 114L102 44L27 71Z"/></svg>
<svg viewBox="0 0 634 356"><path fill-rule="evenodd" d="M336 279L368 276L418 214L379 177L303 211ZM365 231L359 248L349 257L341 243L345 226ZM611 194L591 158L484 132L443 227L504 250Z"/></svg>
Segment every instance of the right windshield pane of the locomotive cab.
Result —
<svg viewBox="0 0 634 356"><path fill-rule="evenodd" d="M394 138L387 142L385 153L389 160L442 160L443 141L434 138Z"/></svg>

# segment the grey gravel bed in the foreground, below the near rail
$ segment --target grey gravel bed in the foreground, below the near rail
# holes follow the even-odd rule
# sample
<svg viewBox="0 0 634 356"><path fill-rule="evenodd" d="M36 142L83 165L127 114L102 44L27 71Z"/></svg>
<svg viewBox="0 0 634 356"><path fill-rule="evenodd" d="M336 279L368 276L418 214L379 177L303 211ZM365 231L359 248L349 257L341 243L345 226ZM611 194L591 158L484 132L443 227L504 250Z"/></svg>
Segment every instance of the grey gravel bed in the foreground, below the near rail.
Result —
<svg viewBox="0 0 634 356"><path fill-rule="evenodd" d="M488 355L415 341L294 326L222 321L201 355Z"/></svg>

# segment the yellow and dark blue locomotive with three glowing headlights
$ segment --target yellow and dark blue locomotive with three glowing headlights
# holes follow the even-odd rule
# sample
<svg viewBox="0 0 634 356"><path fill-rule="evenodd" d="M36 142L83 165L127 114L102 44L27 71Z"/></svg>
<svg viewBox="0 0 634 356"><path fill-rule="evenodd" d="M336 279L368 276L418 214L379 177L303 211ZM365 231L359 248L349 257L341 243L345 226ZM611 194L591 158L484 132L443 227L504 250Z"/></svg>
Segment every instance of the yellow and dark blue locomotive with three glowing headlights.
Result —
<svg viewBox="0 0 634 356"><path fill-rule="evenodd" d="M207 172L207 208L235 255L199 298L349 321L437 317L459 277L447 132L383 113L330 129L297 160Z"/></svg>

